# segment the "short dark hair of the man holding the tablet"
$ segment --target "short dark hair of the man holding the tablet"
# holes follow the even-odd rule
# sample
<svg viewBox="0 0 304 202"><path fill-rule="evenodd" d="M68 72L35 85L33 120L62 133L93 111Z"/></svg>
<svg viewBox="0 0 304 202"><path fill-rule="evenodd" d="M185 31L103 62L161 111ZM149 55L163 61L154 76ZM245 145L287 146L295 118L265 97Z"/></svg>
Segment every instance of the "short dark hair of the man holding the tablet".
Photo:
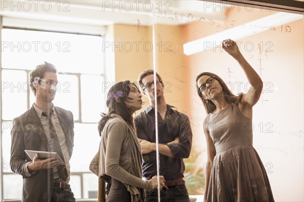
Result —
<svg viewBox="0 0 304 202"><path fill-rule="evenodd" d="M35 70L33 70L29 75L29 82L30 82L30 88L33 91L34 95L36 96L36 88L34 84L36 82L41 81L41 79L44 77L45 72L54 72L57 73L57 70L54 65L51 63L44 62L44 64L37 65Z"/></svg>

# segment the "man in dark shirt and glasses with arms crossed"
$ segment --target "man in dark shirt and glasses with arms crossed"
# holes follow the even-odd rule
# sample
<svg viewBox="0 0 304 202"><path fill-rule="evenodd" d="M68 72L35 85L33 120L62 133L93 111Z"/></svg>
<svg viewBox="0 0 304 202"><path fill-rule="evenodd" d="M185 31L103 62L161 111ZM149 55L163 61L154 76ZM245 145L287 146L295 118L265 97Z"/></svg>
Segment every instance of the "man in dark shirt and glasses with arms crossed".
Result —
<svg viewBox="0 0 304 202"><path fill-rule="evenodd" d="M138 77L143 94L150 105L134 119L137 137L143 157L143 177L146 180L157 175L155 99L158 107L158 137L160 153L160 175L165 177L168 189L161 190L161 201L189 201L184 181L185 165L192 145L192 131L187 115L167 105L164 97L164 83L157 74L157 95L155 96L154 71L146 70ZM157 189L146 191L145 202L158 201Z"/></svg>

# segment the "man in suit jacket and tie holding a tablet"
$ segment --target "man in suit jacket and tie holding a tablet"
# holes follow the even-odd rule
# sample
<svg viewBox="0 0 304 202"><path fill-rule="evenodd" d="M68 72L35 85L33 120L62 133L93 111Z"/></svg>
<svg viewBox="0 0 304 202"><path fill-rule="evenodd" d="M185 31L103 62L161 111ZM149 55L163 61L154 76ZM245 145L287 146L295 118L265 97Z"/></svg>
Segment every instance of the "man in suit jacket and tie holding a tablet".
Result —
<svg viewBox="0 0 304 202"><path fill-rule="evenodd" d="M45 62L30 74L35 103L13 120L11 169L23 177L22 201L75 201L69 185L69 159L73 151L74 123L71 112L54 107L56 68ZM24 150L54 151L55 158L31 160Z"/></svg>

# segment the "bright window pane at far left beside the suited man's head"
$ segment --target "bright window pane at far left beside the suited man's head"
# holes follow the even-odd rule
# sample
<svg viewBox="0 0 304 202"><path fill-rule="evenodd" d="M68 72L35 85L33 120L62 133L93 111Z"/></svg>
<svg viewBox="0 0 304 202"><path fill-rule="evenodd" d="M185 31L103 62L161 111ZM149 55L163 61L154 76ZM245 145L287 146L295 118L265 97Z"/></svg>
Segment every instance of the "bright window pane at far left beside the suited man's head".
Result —
<svg viewBox="0 0 304 202"><path fill-rule="evenodd" d="M23 70L2 71L2 119L13 120L27 110L29 83Z"/></svg>

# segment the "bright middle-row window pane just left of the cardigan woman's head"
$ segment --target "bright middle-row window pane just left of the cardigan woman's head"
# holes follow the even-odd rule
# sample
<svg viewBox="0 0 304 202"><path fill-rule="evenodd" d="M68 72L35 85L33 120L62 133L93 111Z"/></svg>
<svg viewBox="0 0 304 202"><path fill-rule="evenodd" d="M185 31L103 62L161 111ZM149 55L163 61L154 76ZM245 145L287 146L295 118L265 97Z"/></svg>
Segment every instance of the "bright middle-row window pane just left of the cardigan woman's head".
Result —
<svg viewBox="0 0 304 202"><path fill-rule="evenodd" d="M105 108L105 93L110 82L104 82L102 76L81 76L81 109L83 122L98 122Z"/></svg>

